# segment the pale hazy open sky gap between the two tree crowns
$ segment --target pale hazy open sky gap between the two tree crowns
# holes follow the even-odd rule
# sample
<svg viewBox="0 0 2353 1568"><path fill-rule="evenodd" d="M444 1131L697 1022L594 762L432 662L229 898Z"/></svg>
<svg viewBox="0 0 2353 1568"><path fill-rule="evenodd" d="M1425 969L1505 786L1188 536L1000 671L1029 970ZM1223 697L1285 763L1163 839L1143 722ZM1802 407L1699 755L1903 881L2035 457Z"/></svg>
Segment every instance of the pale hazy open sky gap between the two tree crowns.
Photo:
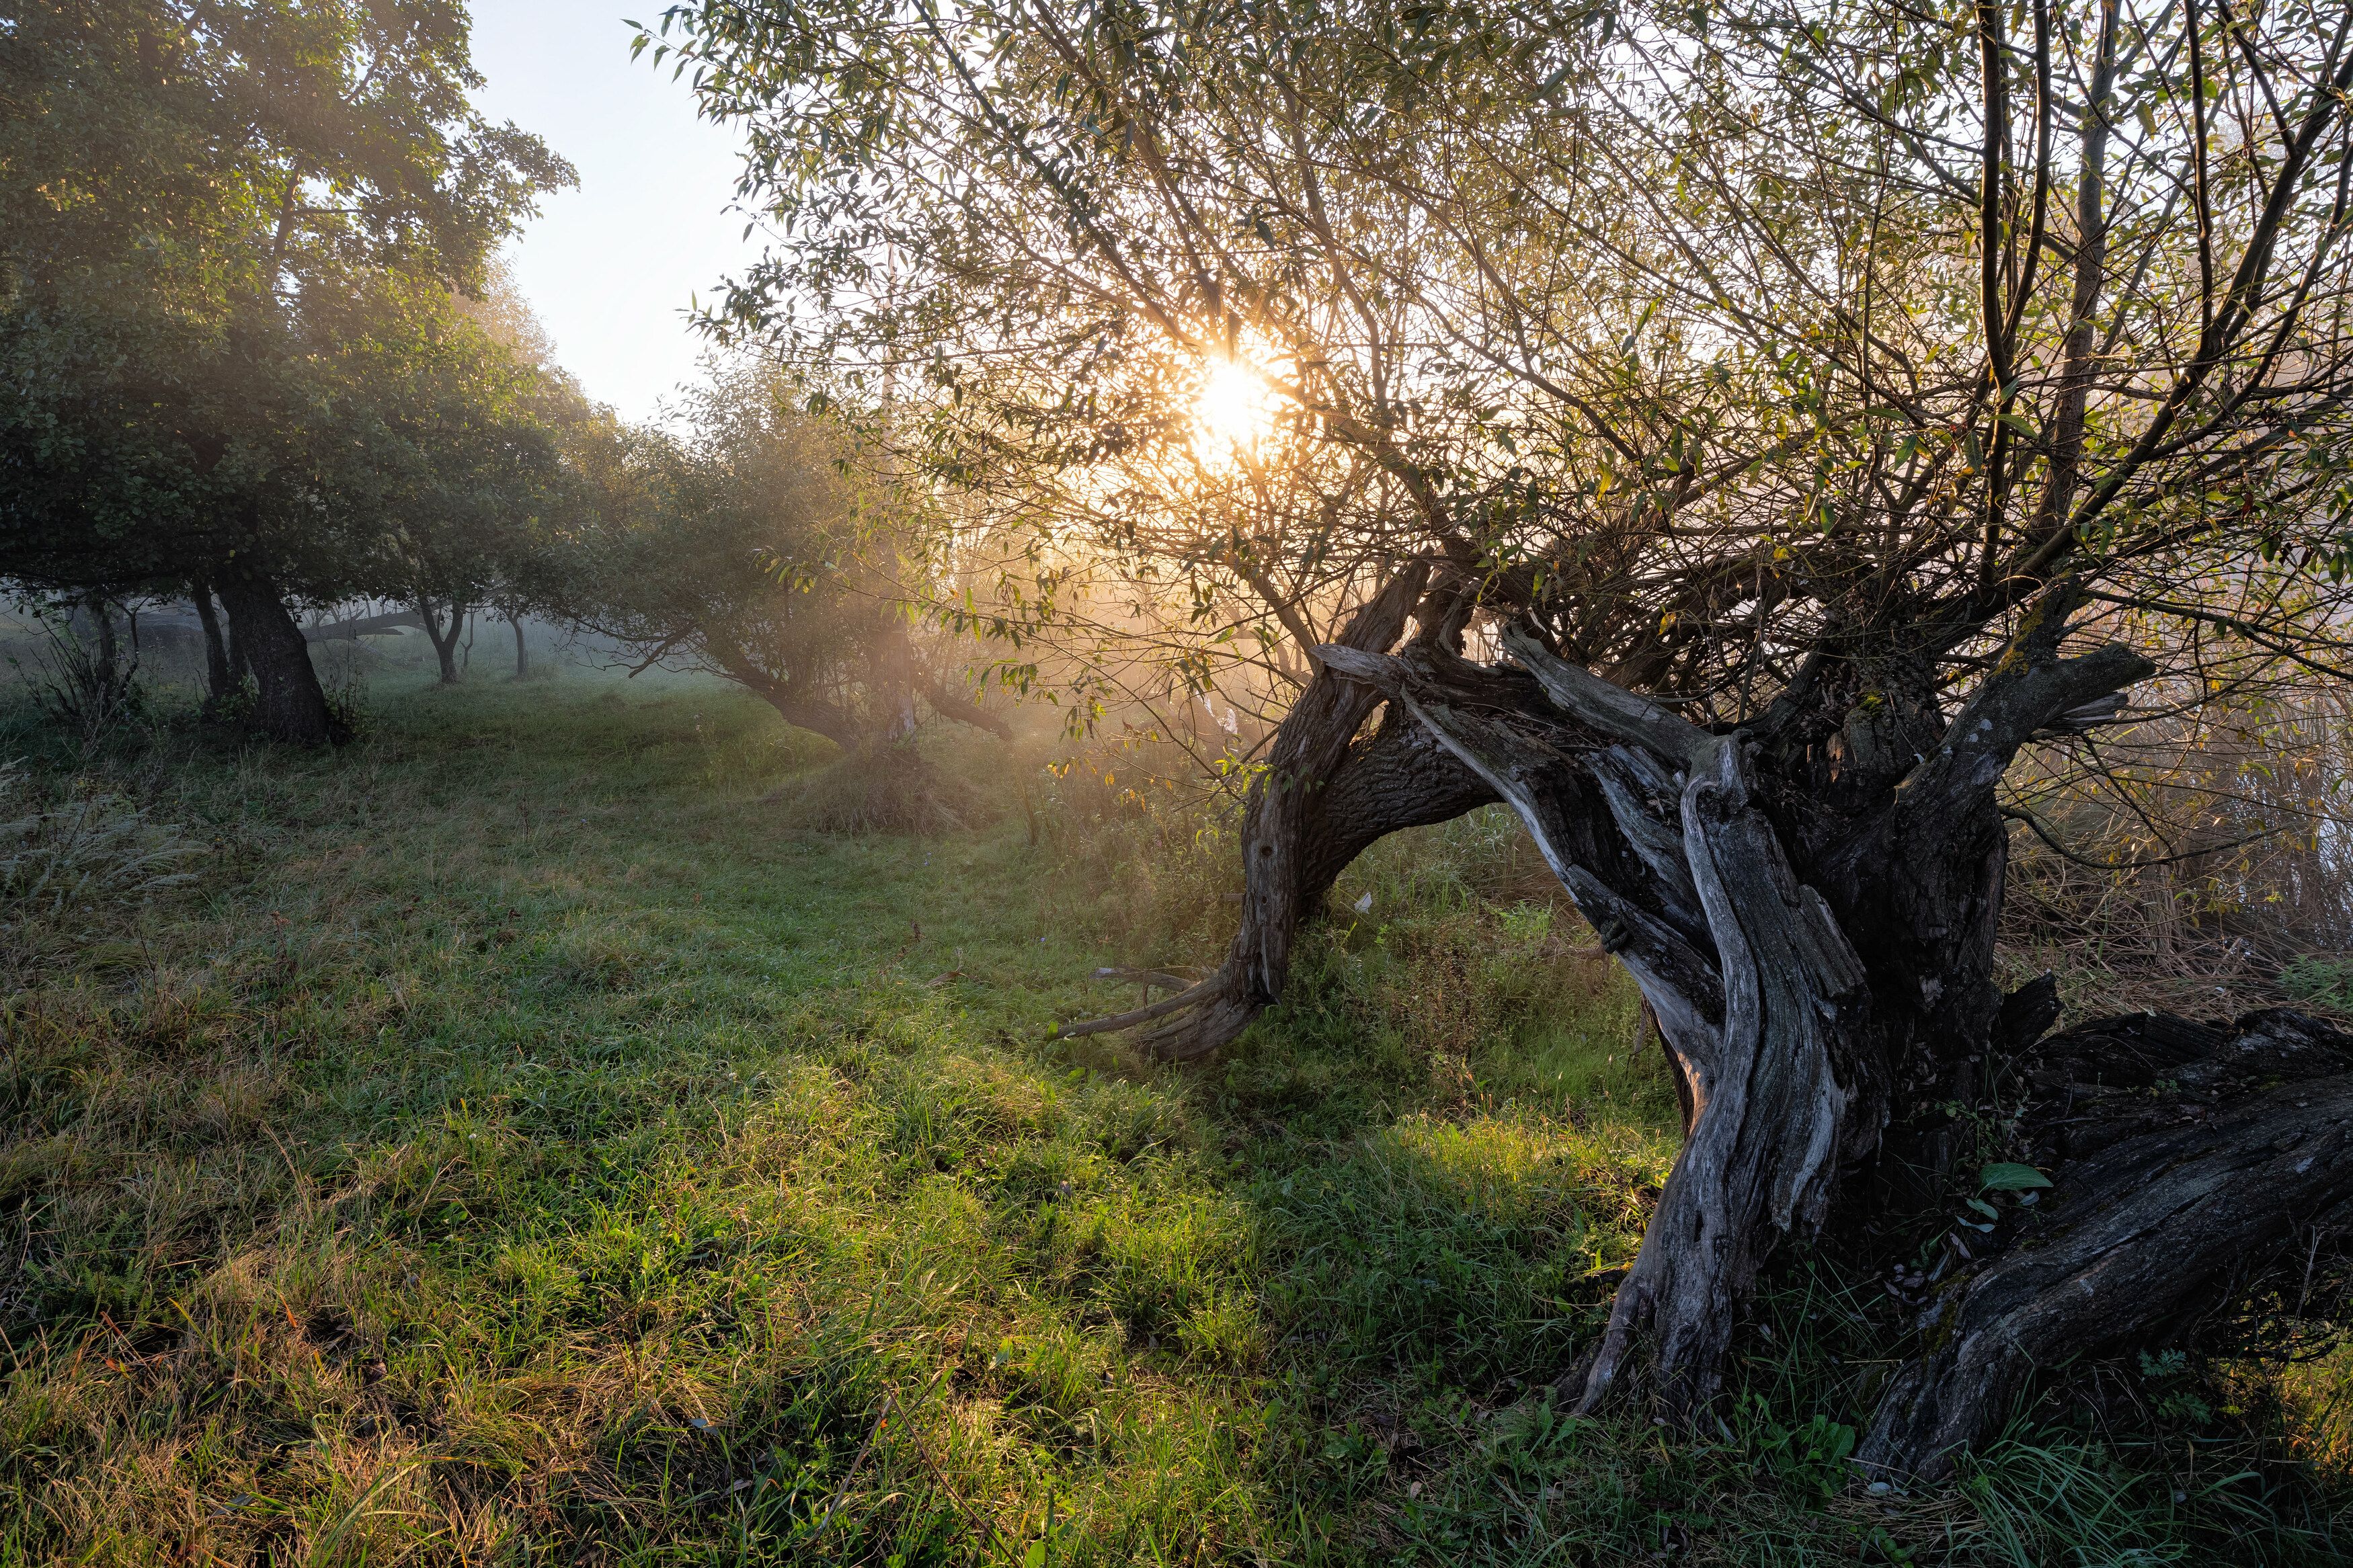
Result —
<svg viewBox="0 0 2353 1568"><path fill-rule="evenodd" d="M482 113L536 132L581 174L541 205L513 249L515 275L591 397L631 418L694 376L682 310L741 270L760 237L729 216L736 143L694 118L671 68L631 61L621 16L664 0L475 0Z"/></svg>

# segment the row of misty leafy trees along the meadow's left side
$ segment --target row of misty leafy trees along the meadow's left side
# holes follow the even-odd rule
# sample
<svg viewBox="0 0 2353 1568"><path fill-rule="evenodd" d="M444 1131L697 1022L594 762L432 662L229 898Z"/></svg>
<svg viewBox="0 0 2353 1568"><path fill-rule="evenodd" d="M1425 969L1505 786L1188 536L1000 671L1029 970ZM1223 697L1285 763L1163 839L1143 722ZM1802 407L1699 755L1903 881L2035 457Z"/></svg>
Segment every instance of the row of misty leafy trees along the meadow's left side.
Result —
<svg viewBox="0 0 2353 1568"><path fill-rule="evenodd" d="M456 0L33 0L0 28L0 578L193 599L216 691L320 743L299 611L612 632L842 743L918 696L892 512L739 367L628 428L496 247L572 181L489 125ZM219 604L221 616L214 611ZM221 625L226 618L226 625Z"/></svg>

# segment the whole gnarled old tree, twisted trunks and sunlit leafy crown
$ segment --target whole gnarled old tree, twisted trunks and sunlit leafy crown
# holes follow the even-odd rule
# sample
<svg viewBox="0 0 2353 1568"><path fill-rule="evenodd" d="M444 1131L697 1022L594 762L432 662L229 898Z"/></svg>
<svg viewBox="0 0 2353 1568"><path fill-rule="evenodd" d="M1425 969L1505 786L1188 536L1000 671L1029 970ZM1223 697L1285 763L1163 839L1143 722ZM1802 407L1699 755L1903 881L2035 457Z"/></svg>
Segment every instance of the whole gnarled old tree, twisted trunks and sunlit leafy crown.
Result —
<svg viewBox="0 0 2353 1568"><path fill-rule="evenodd" d="M2353 1199L2341 1041L2045 1039L1995 983L2026 748L2184 646L2337 668L2341 7L706 0L647 42L781 235L715 324L1313 656L1228 959L1087 1027L1214 1051L1358 851L1485 802L1635 976L1687 1135L1588 1406L1694 1420L1774 1246L2061 1164L1922 1300L1866 1458L1934 1474ZM1132 480L1231 367L1252 482L1174 527Z"/></svg>

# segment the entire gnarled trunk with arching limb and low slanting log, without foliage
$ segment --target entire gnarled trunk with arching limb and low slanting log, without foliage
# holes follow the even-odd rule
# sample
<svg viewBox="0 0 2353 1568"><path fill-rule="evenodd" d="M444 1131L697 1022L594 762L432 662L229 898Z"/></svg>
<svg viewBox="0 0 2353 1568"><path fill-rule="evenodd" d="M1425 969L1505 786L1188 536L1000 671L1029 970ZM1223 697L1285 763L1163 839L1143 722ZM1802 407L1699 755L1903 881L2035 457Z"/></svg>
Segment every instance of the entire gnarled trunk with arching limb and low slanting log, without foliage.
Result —
<svg viewBox="0 0 2353 1568"><path fill-rule="evenodd" d="M2082 597L2059 583L1951 722L1915 675L1927 658L1899 651L1817 658L1758 724L1720 733L1518 625L1504 630L1515 665L1473 665L1442 637L1391 654L1414 588L1318 649L1322 672L1252 792L1226 966L1068 1032L1158 1025L1141 1044L1174 1058L1233 1039L1280 992L1299 919L1348 858L1506 802L1642 987L1682 1079L1687 1138L1584 1406L1642 1389L1692 1425L1777 1246L1833 1211L1922 1215L1953 1197L1955 1110L1984 1105L2057 1016L2054 987L2005 999L1993 983L1995 785L2031 738L2113 717L2151 665L2122 646L2064 658ZM1384 724L1355 741L1381 701ZM2071 1095L2042 1107L2066 1131L2038 1150L2061 1192L2012 1227L2012 1251L1967 1248L1972 1272L1922 1314L1927 1349L1880 1410L1871 1465L1941 1474L2033 1366L2146 1342L2297 1225L2353 1213L2353 1041L2278 1020L2235 1039L2184 1025L2162 1048L2127 1034L2071 1032L2024 1058ZM2089 1088L2115 1081L2129 1093ZM2151 1084L2198 1103L2151 1124Z"/></svg>

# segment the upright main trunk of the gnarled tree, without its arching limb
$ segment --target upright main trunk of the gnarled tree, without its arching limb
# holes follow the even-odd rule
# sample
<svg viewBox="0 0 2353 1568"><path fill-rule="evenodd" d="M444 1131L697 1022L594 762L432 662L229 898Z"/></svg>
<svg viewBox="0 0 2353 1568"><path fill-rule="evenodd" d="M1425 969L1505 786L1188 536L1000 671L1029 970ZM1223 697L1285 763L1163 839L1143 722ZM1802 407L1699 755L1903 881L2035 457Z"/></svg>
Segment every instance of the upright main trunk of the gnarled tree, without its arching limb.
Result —
<svg viewBox="0 0 2353 1568"><path fill-rule="evenodd" d="M1520 813L1642 987L1685 1079L1689 1135L1584 1408L1631 1382L1694 1425L1722 1387L1758 1269L1781 1239L1821 1232L1889 1119L1894 1164L1925 1154L1934 1180L1951 1161L1937 1107L1977 1103L2000 1009L1993 788L2035 731L2148 672L2113 646L2059 658L2078 602L2049 592L1941 738L1885 745L1849 712L1857 733L1840 750L1866 776L1838 790L1817 788L1819 748L1777 745L1769 724L1699 729L1525 628L1504 632L1518 672L1419 649L1320 649L1327 670L1391 696ZM1901 701L1861 710L1868 726L1908 722ZM1941 729L1932 715L1922 722ZM1824 816L1809 809L1819 799L1845 809Z"/></svg>

